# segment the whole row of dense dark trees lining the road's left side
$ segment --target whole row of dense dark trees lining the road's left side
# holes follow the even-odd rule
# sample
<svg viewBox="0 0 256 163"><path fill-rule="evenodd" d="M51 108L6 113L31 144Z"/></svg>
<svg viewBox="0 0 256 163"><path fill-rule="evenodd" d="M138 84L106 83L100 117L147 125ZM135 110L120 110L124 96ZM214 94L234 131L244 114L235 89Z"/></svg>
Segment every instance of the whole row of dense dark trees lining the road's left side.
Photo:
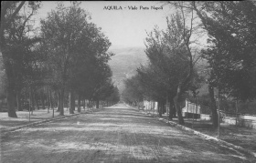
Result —
<svg viewBox="0 0 256 163"><path fill-rule="evenodd" d="M75 99L119 101L108 65L112 53L109 39L91 23L91 15L80 3L59 3L37 25L32 18L39 2L1 2L1 53L8 116L16 117L27 101L53 106L57 98L59 114L69 101L69 113ZM24 12L22 12L24 11ZM37 26L37 27L35 27ZM15 107L16 105L16 107Z"/></svg>

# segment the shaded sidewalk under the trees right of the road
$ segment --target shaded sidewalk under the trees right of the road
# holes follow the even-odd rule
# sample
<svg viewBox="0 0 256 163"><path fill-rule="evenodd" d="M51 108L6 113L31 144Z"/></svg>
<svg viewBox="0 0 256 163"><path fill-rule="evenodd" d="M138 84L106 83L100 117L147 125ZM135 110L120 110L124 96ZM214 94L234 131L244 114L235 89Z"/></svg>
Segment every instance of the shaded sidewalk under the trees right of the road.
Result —
<svg viewBox="0 0 256 163"><path fill-rule="evenodd" d="M150 113L158 116L156 112L151 111ZM164 114L162 118L168 119L166 114ZM178 124L177 118L173 118L173 121ZM211 121L200 119L196 121L196 119L194 119L194 124L191 118L184 118L184 121L185 127L193 128L211 137L218 137L218 129L211 126ZM220 123L219 139L256 153L256 129Z"/></svg>

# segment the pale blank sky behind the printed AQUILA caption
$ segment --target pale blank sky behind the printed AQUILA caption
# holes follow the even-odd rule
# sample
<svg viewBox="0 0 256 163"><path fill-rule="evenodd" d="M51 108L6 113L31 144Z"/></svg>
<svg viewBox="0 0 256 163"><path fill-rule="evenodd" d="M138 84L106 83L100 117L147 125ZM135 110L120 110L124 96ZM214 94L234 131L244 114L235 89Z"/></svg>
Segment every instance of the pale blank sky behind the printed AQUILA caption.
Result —
<svg viewBox="0 0 256 163"><path fill-rule="evenodd" d="M64 2L69 5L70 2ZM106 10L112 5L120 10ZM160 7L163 2L158 1L82 1L81 7L91 13L91 22L101 27L101 31L109 37L112 47L123 46L144 46L146 32L153 30L155 25L160 29L166 27L165 17L172 13L169 6L155 10L152 6ZM57 6L56 1L42 1L41 8L38 10L38 17L45 18L51 9ZM128 6L136 6L137 10L131 10ZM143 9L144 7L144 9ZM148 7L149 9L145 9Z"/></svg>

